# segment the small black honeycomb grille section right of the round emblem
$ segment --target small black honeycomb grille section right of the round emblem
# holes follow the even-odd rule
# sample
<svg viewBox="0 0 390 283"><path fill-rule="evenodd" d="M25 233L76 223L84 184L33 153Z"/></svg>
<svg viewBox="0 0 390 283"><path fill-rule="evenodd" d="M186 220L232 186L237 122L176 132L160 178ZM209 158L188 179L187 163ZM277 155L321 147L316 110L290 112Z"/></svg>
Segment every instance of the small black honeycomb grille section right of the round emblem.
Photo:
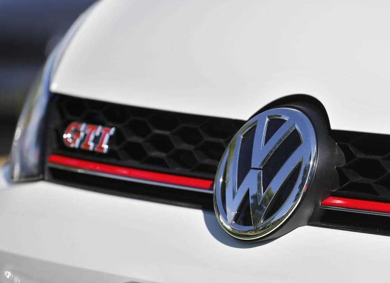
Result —
<svg viewBox="0 0 390 283"><path fill-rule="evenodd" d="M337 168L340 188L333 196L390 202L390 136L332 132L346 163Z"/></svg>

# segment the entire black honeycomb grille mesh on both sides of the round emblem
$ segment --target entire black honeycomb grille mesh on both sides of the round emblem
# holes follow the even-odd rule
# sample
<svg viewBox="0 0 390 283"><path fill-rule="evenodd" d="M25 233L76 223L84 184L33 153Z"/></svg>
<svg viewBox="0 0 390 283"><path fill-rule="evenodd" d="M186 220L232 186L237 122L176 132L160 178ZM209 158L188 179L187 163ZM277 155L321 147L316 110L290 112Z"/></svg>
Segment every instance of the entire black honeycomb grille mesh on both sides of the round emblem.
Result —
<svg viewBox="0 0 390 283"><path fill-rule="evenodd" d="M116 127L107 154L67 148L73 121ZM245 121L125 106L54 95L48 117L47 155L213 180L222 154ZM332 131L346 162L331 195L390 202L390 136Z"/></svg>

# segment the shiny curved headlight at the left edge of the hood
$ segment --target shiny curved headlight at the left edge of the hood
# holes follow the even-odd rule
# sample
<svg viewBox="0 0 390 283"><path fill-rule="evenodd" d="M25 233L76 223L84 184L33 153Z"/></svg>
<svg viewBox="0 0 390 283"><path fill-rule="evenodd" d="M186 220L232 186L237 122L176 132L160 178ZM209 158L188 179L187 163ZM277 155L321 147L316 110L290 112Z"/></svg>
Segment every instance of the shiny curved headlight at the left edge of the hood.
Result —
<svg viewBox="0 0 390 283"><path fill-rule="evenodd" d="M30 90L16 127L10 160L6 165L5 171L9 172L10 181L29 182L43 179L43 139L46 125L44 120L51 98L52 78L66 47L94 7L96 3L74 22L49 56Z"/></svg>

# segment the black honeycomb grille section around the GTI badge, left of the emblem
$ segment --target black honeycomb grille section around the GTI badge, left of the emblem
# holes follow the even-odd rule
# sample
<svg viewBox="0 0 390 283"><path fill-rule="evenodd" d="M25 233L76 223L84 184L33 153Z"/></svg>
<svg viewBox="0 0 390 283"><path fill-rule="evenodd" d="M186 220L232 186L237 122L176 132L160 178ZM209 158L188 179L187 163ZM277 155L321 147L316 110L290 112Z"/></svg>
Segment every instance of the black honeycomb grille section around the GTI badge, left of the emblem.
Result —
<svg viewBox="0 0 390 283"><path fill-rule="evenodd" d="M227 144L244 123L65 95L54 96L48 121L48 154L205 179L214 179ZM72 121L115 127L109 152L66 147L62 135Z"/></svg>

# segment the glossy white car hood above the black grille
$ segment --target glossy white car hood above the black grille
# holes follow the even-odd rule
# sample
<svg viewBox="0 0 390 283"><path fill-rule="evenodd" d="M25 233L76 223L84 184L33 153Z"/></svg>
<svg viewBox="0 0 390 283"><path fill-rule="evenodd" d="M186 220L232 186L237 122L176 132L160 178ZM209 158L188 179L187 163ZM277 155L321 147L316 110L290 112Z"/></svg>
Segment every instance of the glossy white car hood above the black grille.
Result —
<svg viewBox="0 0 390 283"><path fill-rule="evenodd" d="M101 1L51 90L247 120L307 94L331 127L390 134L390 2Z"/></svg>

